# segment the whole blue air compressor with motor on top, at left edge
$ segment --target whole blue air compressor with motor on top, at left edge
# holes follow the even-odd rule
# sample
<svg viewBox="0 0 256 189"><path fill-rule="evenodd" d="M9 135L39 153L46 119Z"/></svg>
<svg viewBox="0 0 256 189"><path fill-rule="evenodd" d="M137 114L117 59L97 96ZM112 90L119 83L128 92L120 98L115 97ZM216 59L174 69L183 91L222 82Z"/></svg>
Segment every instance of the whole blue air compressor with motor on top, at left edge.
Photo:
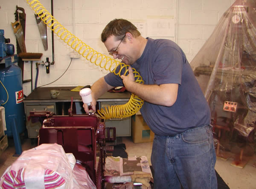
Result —
<svg viewBox="0 0 256 189"><path fill-rule="evenodd" d="M0 30L0 105L5 108L7 136L13 135L13 124L17 134L23 133L25 127L25 110L23 102L22 72L15 65L17 55L14 56L14 45L7 44L9 39L4 37L4 30ZM9 61L11 60L11 63ZM6 64L6 62L9 62ZM5 63L5 64L4 64ZM7 66L6 66L7 65Z"/></svg>

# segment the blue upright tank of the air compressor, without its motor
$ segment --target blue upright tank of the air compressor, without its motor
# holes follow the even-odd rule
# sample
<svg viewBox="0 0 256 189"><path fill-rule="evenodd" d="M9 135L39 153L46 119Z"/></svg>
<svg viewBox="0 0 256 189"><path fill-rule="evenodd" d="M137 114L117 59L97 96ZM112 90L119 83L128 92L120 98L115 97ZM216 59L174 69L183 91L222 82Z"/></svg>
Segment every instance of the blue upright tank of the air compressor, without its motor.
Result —
<svg viewBox="0 0 256 189"><path fill-rule="evenodd" d="M16 118L17 133L23 133L25 127L25 110L23 102L23 87L22 87L22 73L20 67L15 64L5 68L3 64L0 65L0 80L6 87L9 95L7 100L7 93L3 85L0 84L0 104L5 107L6 115L6 131L7 136L12 136L13 119ZM6 104L3 104L5 103ZM12 120L11 120L12 119Z"/></svg>

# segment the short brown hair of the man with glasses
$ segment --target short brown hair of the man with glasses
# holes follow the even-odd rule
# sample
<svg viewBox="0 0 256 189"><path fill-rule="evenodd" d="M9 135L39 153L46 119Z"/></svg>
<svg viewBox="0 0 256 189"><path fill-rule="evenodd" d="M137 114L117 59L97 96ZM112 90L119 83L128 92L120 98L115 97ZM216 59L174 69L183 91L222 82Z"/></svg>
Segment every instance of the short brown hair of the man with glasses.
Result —
<svg viewBox="0 0 256 189"><path fill-rule="evenodd" d="M101 40L105 42L112 35L116 37L116 40L121 40L127 32L131 33L133 37L140 36L140 31L128 20L114 19L102 31Z"/></svg>

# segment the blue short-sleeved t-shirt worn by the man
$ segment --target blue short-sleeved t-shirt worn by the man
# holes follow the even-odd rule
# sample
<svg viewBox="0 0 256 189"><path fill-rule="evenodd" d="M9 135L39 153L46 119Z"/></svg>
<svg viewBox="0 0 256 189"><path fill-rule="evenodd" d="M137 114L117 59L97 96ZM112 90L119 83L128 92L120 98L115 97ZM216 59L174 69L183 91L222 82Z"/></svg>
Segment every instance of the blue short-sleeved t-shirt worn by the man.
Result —
<svg viewBox="0 0 256 189"><path fill-rule="evenodd" d="M131 67L142 76L145 85L177 83L178 94L171 107L144 102L140 112L156 135L183 133L210 124L210 110L182 49L167 39L151 39L142 56ZM122 79L108 73L105 81L111 86L123 86Z"/></svg>

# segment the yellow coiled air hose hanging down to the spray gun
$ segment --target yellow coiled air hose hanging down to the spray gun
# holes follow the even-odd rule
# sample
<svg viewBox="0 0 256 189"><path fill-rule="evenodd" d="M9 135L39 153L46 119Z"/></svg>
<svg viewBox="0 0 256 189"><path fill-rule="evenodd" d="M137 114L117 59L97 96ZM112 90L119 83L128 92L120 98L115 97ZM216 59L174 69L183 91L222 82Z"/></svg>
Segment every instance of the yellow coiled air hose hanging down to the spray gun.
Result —
<svg viewBox="0 0 256 189"><path fill-rule="evenodd" d="M112 59L109 56L101 54L89 45L86 45L74 34L64 28L53 16L50 14L44 6L38 0L26 0L29 6L35 11L35 14L38 14L41 17L41 20L51 28L51 30L57 34L64 42L67 43L75 51L79 52L84 58L86 58L91 63L104 68L107 71L110 71L116 75L121 76L122 69L125 69L125 75L128 74L128 65L125 65L122 62L119 62L115 59ZM116 68L120 65L119 71L116 71ZM133 68L135 82L144 83L140 74ZM126 104L108 106L105 109L98 110L97 113L103 119L110 118L126 118L134 115L143 105L143 99L140 99L138 96L131 94L131 99Z"/></svg>

